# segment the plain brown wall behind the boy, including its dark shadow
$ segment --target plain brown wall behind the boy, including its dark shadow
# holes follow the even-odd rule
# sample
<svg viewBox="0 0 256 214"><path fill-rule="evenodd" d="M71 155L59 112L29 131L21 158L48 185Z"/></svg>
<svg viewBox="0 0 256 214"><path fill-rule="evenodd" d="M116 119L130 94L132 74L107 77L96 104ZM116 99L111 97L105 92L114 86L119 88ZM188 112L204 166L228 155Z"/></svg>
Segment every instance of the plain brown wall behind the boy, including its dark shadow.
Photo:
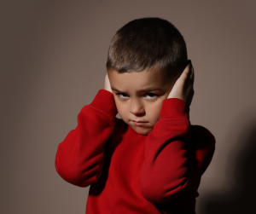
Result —
<svg viewBox="0 0 256 214"><path fill-rule="evenodd" d="M89 188L61 179L55 153L103 89L113 34L148 16L183 34L195 67L190 121L217 140L196 210L256 213L255 8L255 1L1 1L0 213L84 213Z"/></svg>

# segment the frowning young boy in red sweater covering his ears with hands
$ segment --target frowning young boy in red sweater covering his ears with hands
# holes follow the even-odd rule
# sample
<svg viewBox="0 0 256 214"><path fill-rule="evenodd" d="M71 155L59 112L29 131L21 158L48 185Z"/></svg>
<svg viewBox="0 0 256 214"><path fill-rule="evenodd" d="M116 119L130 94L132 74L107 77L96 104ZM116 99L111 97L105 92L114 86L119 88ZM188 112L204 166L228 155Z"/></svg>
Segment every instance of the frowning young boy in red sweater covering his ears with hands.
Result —
<svg viewBox="0 0 256 214"><path fill-rule="evenodd" d="M87 214L195 213L215 138L189 121L194 69L183 36L167 20L132 20L114 35L107 70L60 143L56 171L90 185Z"/></svg>

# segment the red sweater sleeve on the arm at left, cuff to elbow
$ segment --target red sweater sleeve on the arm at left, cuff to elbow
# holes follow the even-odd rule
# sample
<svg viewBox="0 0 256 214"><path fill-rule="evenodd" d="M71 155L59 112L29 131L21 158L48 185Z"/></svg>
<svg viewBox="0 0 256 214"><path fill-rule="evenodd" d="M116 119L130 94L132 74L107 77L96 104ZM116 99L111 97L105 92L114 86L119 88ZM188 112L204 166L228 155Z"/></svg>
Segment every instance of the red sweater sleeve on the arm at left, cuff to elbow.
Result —
<svg viewBox="0 0 256 214"><path fill-rule="evenodd" d="M113 94L99 90L78 115L78 125L58 146L55 169L67 182L87 187L96 182L104 165L104 146L113 132L117 108Z"/></svg>

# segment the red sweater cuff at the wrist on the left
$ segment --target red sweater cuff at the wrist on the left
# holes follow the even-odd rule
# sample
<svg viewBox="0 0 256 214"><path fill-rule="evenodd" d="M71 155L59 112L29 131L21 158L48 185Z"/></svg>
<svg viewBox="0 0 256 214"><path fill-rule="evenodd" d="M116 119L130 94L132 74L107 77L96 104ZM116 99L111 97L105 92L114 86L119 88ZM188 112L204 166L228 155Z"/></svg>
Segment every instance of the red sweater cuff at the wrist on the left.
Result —
<svg viewBox="0 0 256 214"><path fill-rule="evenodd" d="M89 106L102 110L110 117L115 117L115 115L118 113L115 101L113 99L113 94L108 90L99 90Z"/></svg>

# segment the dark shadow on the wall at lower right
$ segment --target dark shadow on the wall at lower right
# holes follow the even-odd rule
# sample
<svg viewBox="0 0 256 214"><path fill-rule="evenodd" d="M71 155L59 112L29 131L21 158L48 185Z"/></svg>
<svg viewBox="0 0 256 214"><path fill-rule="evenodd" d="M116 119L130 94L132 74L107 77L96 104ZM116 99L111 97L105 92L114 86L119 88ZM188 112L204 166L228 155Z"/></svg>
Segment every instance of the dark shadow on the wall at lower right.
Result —
<svg viewBox="0 0 256 214"><path fill-rule="evenodd" d="M250 112L252 113L252 112ZM248 113L246 113L248 115ZM253 113L255 115L255 113ZM251 114L251 115L253 115ZM254 116L253 115L253 116ZM243 118L244 120L244 118ZM241 125L237 121L236 127ZM240 126L241 128L241 126ZM236 130L233 135L236 135ZM201 200L201 213L203 214L247 214L256 213L256 119L242 127L236 139L235 146L241 145L233 157L228 159L227 177L234 181L228 193L207 194ZM234 158L234 159L233 159ZM228 180L228 179L227 179ZM228 181L227 181L228 182ZM227 183L229 184L229 183Z"/></svg>

